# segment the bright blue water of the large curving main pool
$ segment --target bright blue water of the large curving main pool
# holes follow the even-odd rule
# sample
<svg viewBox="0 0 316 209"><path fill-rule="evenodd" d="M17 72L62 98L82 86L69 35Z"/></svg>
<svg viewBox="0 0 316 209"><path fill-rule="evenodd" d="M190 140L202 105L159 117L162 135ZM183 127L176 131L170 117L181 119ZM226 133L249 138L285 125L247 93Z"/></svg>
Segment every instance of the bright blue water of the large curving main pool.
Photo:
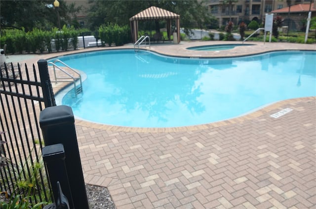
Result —
<svg viewBox="0 0 316 209"><path fill-rule="evenodd" d="M281 51L186 59L134 50L59 57L83 70L83 94L62 104L88 121L129 127L178 127L240 116L277 101L316 96L316 52Z"/></svg>

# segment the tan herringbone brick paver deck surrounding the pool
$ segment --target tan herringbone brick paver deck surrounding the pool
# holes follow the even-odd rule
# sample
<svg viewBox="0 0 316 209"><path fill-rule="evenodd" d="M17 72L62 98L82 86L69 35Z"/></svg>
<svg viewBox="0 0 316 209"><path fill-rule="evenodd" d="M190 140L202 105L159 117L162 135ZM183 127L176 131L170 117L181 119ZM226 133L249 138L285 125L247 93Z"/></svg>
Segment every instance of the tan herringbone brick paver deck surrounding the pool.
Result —
<svg viewBox="0 0 316 209"><path fill-rule="evenodd" d="M239 51L316 50L315 44L273 44ZM152 49L171 55L183 51L183 56L204 53L183 47L185 43ZM210 53L205 56L224 52ZM292 111L271 117L285 108ZM108 187L118 209L316 208L316 97L281 101L235 119L179 129L79 120L76 129L86 183Z"/></svg>

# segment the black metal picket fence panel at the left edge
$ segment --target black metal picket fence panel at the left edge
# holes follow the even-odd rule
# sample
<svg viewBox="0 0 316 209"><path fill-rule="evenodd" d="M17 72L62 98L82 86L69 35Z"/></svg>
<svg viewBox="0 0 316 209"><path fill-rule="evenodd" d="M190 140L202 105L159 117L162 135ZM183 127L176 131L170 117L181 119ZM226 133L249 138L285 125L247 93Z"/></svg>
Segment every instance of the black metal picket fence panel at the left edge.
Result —
<svg viewBox="0 0 316 209"><path fill-rule="evenodd" d="M47 65L39 61L38 66L29 70L27 65L3 65L0 71L0 190L27 194L34 203L52 201L41 157L39 115L43 107L56 105Z"/></svg>

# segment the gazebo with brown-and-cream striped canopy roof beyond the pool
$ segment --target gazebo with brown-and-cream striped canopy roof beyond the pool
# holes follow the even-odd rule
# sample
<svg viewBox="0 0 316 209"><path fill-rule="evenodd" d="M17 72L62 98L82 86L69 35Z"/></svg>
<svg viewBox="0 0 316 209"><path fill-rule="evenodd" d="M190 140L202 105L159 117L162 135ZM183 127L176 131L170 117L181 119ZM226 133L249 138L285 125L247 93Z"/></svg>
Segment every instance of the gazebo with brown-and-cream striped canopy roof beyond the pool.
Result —
<svg viewBox="0 0 316 209"><path fill-rule="evenodd" d="M171 21L175 20L176 30L177 30L177 40L180 42L180 15L170 12L165 9L158 8L156 6L151 6L133 17L129 18L130 28L132 33L132 38L134 42L138 39L138 21L140 20L166 20L167 22L167 34L168 39L171 35Z"/></svg>

